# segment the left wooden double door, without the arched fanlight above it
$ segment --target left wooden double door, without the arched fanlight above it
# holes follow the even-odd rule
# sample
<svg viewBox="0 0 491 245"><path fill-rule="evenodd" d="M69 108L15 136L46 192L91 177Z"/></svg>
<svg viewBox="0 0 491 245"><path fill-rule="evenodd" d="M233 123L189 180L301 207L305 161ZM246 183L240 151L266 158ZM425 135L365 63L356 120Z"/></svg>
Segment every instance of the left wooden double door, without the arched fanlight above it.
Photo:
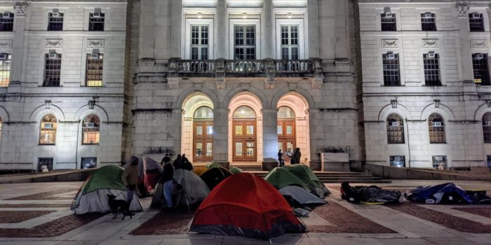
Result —
<svg viewBox="0 0 491 245"><path fill-rule="evenodd" d="M194 122L193 159L195 162L213 160L213 122Z"/></svg>

